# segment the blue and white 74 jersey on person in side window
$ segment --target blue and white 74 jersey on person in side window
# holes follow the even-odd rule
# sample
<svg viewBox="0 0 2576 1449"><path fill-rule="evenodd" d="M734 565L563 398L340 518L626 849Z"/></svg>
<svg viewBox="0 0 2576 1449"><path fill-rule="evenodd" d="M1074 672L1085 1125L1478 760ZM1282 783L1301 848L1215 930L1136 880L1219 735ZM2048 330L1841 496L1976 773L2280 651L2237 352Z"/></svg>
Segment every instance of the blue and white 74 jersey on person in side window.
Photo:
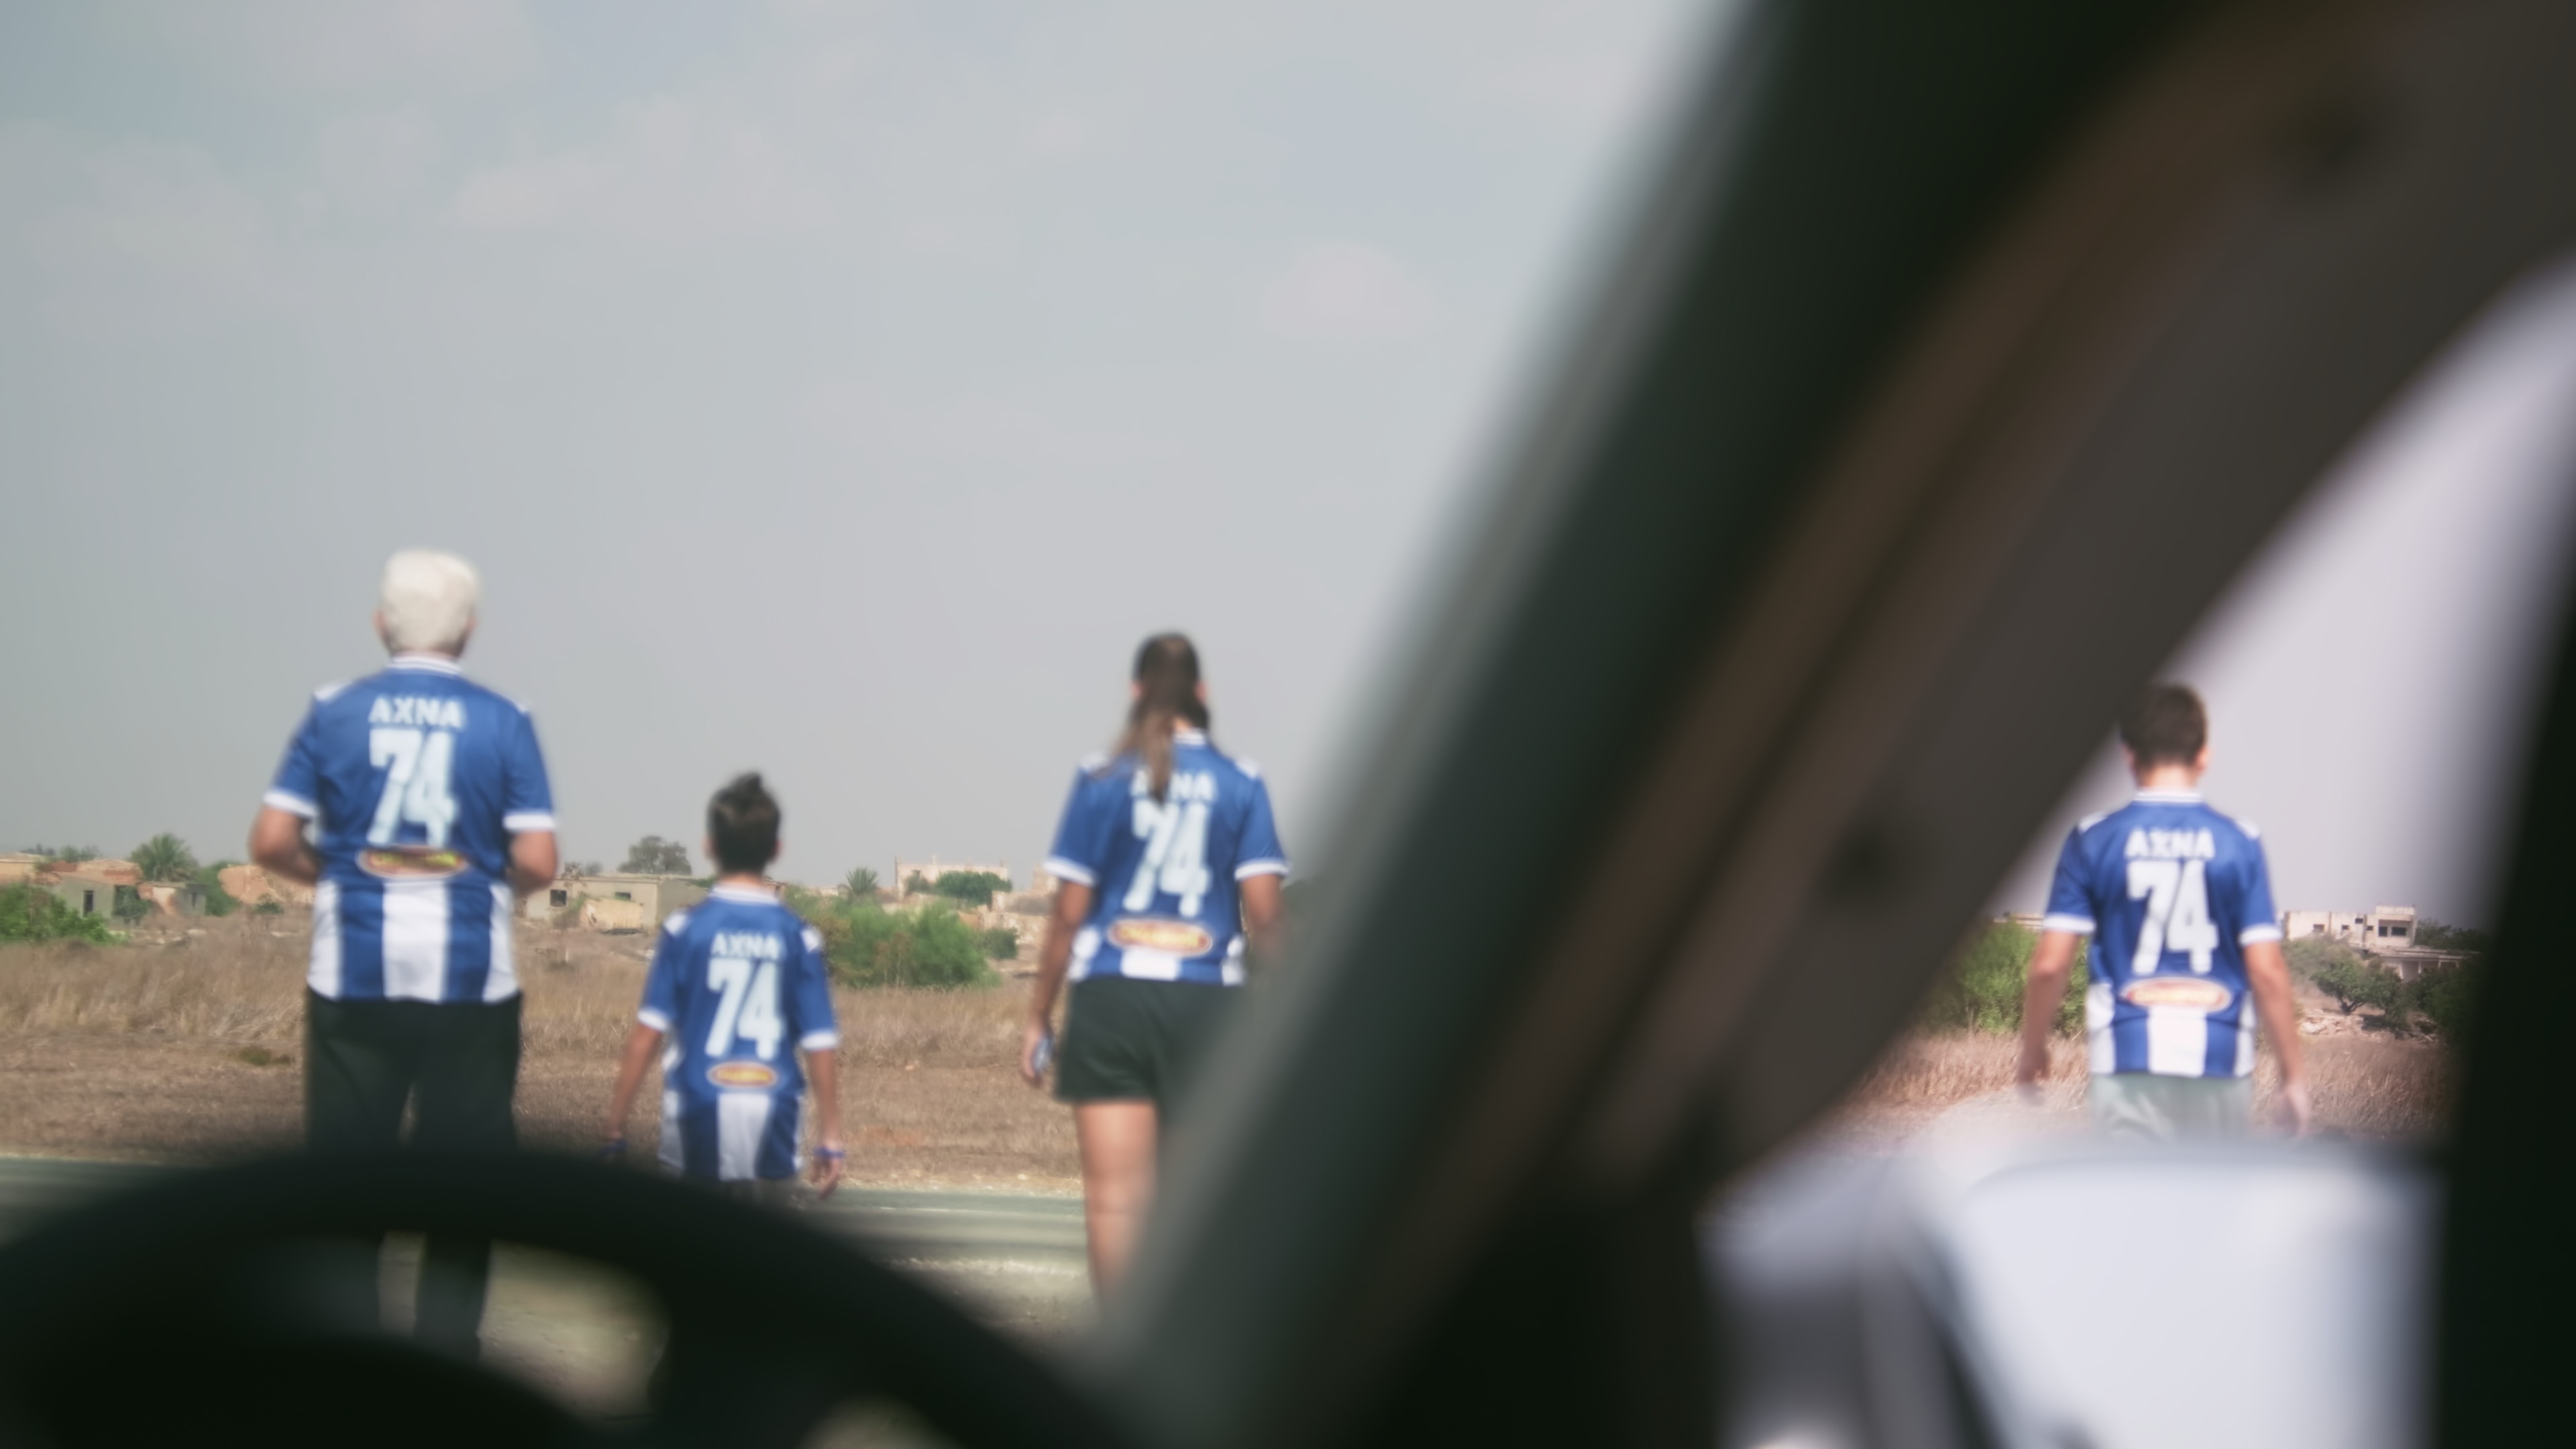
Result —
<svg viewBox="0 0 2576 1449"><path fill-rule="evenodd" d="M2244 949L2280 941L2280 920L2251 825L2190 789L2141 789L2066 838L2043 928L2094 938L2084 987L2094 1073L2254 1073Z"/></svg>

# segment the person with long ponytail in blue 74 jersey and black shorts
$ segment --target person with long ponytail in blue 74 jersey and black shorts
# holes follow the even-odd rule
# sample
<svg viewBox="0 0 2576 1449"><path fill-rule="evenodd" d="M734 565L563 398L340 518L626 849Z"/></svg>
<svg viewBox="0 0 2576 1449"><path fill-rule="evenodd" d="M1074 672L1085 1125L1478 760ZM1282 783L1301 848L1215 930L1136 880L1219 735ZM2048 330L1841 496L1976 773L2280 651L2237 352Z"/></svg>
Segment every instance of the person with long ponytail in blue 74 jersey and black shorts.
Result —
<svg viewBox="0 0 2576 1449"><path fill-rule="evenodd" d="M1056 1098L1074 1109L1100 1292L1133 1253L1164 1116L1236 1006L1247 938L1265 959L1278 954L1288 874L1260 771L1208 740L1190 639L1146 639L1131 694L1118 743L1082 761L1064 802L1046 859L1056 908L1020 1042L1020 1075L1043 1085L1054 1060Z"/></svg>

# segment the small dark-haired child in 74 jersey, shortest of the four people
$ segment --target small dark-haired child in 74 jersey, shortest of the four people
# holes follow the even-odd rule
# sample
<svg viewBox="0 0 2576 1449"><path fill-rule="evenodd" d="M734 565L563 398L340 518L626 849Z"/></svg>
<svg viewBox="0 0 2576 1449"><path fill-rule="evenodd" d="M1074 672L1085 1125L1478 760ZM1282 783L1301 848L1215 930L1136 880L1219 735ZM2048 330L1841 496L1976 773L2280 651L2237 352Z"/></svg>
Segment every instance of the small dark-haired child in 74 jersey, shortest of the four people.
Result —
<svg viewBox="0 0 2576 1449"><path fill-rule="evenodd" d="M675 910L654 941L644 1008L608 1098L608 1155L626 1150L626 1114L662 1052L662 1165L724 1191L788 1201L804 1075L814 1075L814 1186L832 1196L840 1145L840 1029L822 936L762 874L778 859L778 802L747 773L706 804L716 890Z"/></svg>

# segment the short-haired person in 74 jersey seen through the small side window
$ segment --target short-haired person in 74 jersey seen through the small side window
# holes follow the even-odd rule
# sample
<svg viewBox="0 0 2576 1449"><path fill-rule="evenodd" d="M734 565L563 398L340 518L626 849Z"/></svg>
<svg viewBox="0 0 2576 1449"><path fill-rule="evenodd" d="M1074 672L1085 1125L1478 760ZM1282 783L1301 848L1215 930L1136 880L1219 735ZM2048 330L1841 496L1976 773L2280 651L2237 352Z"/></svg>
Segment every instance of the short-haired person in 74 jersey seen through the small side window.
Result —
<svg viewBox="0 0 2576 1449"><path fill-rule="evenodd" d="M2092 1116L2115 1137L2241 1137L2254 1119L2254 1024L2280 1057L2282 1116L2308 1129L2308 1067L2257 830L2200 802L2200 696L2159 683L2120 722L2138 797L2081 820L2058 853L2022 998L2020 1083L2048 1075L2048 1026L2076 941Z"/></svg>

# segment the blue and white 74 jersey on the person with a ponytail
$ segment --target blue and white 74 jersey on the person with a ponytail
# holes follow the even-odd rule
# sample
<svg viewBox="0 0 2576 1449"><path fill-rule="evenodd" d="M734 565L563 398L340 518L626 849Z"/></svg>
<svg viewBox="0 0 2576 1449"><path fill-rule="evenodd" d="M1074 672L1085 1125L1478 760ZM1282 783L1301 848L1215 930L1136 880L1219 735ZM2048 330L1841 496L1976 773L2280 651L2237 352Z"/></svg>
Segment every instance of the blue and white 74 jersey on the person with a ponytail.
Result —
<svg viewBox="0 0 2576 1449"><path fill-rule="evenodd" d="M1092 887L1072 980L1242 985L1236 882L1288 874L1288 851L1260 771L1216 753L1200 730L1175 730L1162 799L1141 761L1084 761L1046 871Z"/></svg>

